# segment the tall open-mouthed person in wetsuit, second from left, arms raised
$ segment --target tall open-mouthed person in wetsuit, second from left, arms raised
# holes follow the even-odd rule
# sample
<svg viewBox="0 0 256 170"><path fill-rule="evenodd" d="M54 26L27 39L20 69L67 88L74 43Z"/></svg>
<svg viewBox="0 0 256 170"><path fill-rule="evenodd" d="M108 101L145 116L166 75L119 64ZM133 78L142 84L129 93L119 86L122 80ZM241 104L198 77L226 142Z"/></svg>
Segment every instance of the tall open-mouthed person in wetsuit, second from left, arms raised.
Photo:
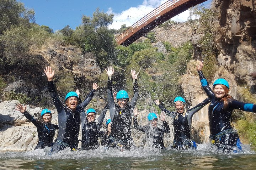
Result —
<svg viewBox="0 0 256 170"><path fill-rule="evenodd" d="M52 147L52 152L58 152L67 147L76 151L78 148L78 135L81 121L80 113L84 112L84 108L92 100L94 92L98 89L98 85L96 83L92 85L91 92L81 104L78 104L79 97L76 92L69 92L65 97L66 106L64 106L57 95L55 85L52 81L54 71L48 66L44 72L48 78L48 90L50 92L50 96L52 97L53 103L58 112L58 123L60 127L57 140L54 142Z"/></svg>

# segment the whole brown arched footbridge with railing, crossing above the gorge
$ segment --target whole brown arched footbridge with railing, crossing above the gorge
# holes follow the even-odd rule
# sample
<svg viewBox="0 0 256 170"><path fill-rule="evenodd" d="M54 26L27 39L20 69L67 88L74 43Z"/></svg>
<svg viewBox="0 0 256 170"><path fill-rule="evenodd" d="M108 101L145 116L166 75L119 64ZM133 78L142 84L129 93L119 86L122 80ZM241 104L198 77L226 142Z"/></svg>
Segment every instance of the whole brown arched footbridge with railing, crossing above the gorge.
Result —
<svg viewBox="0 0 256 170"><path fill-rule="evenodd" d="M170 18L205 1L207 0L168 0L118 35L116 41L118 45L129 46L145 33L148 33Z"/></svg>

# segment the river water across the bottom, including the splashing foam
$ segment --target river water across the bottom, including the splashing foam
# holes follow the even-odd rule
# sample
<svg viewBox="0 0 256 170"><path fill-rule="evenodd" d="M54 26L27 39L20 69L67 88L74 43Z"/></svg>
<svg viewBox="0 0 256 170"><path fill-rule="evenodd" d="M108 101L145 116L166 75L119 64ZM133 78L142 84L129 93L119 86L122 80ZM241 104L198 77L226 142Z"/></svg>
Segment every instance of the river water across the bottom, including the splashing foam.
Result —
<svg viewBox="0 0 256 170"><path fill-rule="evenodd" d="M256 169L256 153L249 146L226 154L200 144L197 151L139 147L49 154L50 148L26 152L0 152L0 169Z"/></svg>

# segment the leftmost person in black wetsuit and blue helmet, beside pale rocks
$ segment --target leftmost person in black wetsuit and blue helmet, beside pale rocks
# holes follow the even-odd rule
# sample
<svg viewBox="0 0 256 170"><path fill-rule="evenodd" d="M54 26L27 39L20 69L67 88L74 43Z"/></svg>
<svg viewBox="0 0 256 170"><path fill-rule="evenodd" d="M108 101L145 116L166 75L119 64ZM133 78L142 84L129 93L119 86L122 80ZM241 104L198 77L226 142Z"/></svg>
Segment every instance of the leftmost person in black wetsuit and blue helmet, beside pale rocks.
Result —
<svg viewBox="0 0 256 170"><path fill-rule="evenodd" d="M55 130L59 129L59 125L54 125L51 123L52 112L49 109L43 109L41 112L41 117L43 121L36 120L32 115L30 115L27 110L27 106L22 106L18 104L16 106L16 111L20 111L24 116L30 120L37 127L38 143L35 149L43 149L45 147L52 147L53 138L55 135Z"/></svg>

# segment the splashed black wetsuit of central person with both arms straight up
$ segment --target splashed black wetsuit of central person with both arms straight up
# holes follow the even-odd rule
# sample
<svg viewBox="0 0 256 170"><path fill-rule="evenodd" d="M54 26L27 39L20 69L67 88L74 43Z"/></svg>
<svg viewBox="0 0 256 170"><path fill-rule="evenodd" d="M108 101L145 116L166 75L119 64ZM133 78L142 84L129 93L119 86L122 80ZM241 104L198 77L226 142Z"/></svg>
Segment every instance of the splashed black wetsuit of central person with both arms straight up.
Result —
<svg viewBox="0 0 256 170"><path fill-rule="evenodd" d="M138 99L138 83L135 80L133 84L134 96L127 106L124 108L119 107L114 103L112 95L112 80L108 78L107 95L108 104L110 109L110 118L112 122L111 134L110 134L110 146L116 147L116 145L124 146L126 149L134 146L133 138L131 136L132 130L132 115L133 109Z"/></svg>

